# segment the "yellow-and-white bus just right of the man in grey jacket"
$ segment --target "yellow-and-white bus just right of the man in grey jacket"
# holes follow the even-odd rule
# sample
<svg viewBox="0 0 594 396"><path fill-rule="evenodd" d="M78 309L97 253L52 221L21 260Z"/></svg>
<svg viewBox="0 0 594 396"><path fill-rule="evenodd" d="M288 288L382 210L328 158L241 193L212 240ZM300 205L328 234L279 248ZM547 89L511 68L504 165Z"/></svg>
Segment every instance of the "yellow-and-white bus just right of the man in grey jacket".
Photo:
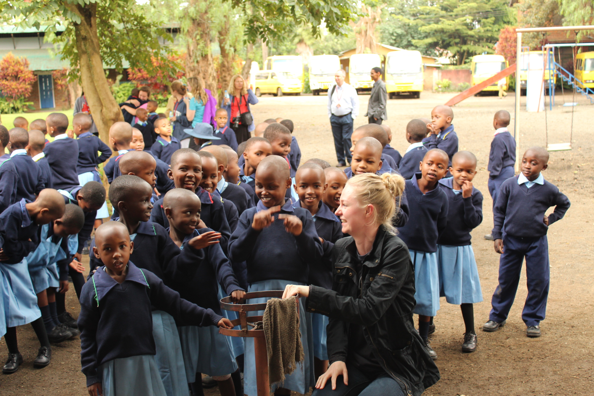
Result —
<svg viewBox="0 0 594 396"><path fill-rule="evenodd" d="M386 55L386 90L390 99L395 94L409 93L421 97L423 90L423 58L419 51L391 51Z"/></svg>

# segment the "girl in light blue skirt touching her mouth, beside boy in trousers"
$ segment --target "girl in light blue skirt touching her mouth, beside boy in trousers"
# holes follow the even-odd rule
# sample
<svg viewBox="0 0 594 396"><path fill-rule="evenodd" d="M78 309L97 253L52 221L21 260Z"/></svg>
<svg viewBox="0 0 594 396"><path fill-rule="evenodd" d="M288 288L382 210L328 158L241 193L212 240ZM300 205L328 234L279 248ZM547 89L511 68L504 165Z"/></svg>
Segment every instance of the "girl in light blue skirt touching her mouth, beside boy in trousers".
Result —
<svg viewBox="0 0 594 396"><path fill-rule="evenodd" d="M441 179L440 188L448 199L445 229L437 239L440 296L450 304L460 305L466 331L462 351L476 350L474 303L482 302L481 280L470 232L482 222L482 194L472 185L476 175L476 157L458 151L451 160L452 178Z"/></svg>

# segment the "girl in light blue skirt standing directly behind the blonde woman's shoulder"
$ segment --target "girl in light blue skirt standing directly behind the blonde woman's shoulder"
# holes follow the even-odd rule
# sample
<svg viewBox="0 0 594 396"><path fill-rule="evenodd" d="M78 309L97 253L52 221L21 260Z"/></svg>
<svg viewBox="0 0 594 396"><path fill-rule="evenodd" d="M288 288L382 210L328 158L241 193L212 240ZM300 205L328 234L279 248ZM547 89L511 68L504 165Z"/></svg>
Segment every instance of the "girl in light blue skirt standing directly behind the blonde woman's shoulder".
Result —
<svg viewBox="0 0 594 396"><path fill-rule="evenodd" d="M437 354L427 343L429 319L440 308L440 290L437 265L437 239L447 223L447 196L438 182L447 172L448 157L443 150L427 152L421 172L406 180L405 190L414 218L399 227L399 236L409 248L415 267L415 300L413 311L419 314L419 335L433 359Z"/></svg>

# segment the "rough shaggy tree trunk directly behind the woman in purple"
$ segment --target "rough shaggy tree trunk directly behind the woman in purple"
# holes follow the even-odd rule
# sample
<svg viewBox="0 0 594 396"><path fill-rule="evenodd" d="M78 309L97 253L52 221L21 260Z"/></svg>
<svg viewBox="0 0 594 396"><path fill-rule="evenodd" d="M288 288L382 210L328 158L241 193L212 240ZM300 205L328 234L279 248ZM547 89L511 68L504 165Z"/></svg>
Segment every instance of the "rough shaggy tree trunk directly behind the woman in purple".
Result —
<svg viewBox="0 0 594 396"><path fill-rule="evenodd" d="M216 75L214 74L213 53L210 45L210 5L202 0L191 0L188 7L200 7L197 18L192 18L187 31L186 76L200 77L204 80L204 88L216 94ZM213 5L214 7L214 5Z"/></svg>

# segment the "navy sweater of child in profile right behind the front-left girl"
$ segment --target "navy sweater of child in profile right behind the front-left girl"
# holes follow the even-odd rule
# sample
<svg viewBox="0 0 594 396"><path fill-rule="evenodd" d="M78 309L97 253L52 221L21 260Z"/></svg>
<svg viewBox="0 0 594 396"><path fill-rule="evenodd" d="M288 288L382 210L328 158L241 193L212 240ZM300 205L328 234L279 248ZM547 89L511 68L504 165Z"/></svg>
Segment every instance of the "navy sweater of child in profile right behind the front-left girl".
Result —
<svg viewBox="0 0 594 396"><path fill-rule="evenodd" d="M102 265L93 254L93 246L94 238L89 252L90 273ZM171 240L169 233L159 224L147 221L138 226L130 259L137 262L138 267L157 275L169 286L172 281L184 281L193 276L196 263L204 259L204 252L202 249L184 246L180 254L178 245Z"/></svg>

